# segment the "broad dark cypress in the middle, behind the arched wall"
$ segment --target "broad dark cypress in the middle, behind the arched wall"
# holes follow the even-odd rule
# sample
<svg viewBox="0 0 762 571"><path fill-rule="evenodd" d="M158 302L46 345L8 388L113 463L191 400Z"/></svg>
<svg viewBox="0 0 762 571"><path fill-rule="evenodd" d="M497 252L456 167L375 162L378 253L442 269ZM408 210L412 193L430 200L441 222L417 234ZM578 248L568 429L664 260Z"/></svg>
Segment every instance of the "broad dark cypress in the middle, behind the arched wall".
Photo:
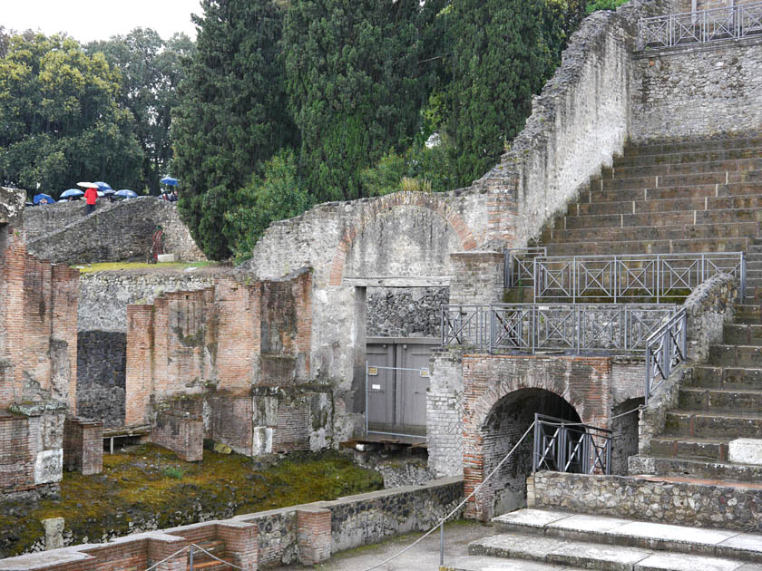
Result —
<svg viewBox="0 0 762 571"><path fill-rule="evenodd" d="M360 171L404 150L425 93L418 0L293 0L284 24L290 109L318 200L363 196Z"/></svg>

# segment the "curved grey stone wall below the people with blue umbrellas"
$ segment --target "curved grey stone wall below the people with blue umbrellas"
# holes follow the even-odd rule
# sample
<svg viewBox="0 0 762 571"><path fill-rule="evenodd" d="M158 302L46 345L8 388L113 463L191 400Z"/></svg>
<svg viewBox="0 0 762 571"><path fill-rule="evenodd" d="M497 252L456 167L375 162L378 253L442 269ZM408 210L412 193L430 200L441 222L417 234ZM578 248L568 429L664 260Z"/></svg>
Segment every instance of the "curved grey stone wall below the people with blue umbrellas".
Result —
<svg viewBox="0 0 762 571"><path fill-rule="evenodd" d="M83 216L80 202L27 208L24 231L30 237L29 251L54 262L144 262L151 251L153 232L161 225L164 252L181 260L205 259L175 204L154 197L112 203L101 200L90 216ZM68 224L61 225L66 220Z"/></svg>

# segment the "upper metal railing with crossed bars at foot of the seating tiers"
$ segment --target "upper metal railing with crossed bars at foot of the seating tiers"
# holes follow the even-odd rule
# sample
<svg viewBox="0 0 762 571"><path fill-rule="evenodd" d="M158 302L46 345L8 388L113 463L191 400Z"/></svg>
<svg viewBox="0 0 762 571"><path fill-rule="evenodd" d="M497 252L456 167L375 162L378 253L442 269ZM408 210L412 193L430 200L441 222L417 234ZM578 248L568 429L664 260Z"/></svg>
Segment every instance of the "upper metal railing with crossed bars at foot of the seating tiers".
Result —
<svg viewBox="0 0 762 571"><path fill-rule="evenodd" d="M746 288L744 252L534 257L531 264L535 303L605 297L658 304L689 295L717 274L738 278L741 299Z"/></svg>

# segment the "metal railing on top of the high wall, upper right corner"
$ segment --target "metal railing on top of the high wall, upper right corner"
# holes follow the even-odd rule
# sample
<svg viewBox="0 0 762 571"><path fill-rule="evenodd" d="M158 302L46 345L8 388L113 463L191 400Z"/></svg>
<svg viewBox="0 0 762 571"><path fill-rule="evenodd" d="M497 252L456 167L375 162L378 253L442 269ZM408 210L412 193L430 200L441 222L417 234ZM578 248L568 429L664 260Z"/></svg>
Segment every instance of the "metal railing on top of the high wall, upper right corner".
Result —
<svg viewBox="0 0 762 571"><path fill-rule="evenodd" d="M762 2L643 18L638 49L706 44L762 34Z"/></svg>

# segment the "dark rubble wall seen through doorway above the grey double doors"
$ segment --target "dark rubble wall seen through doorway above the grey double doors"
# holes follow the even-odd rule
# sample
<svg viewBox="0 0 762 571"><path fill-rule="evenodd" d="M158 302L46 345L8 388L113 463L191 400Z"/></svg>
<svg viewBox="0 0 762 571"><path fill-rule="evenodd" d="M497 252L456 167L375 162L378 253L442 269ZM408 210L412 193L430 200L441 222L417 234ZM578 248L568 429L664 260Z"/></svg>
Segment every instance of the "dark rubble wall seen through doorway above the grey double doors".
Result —
<svg viewBox="0 0 762 571"><path fill-rule="evenodd" d="M438 337L449 287L368 287L368 337Z"/></svg>

